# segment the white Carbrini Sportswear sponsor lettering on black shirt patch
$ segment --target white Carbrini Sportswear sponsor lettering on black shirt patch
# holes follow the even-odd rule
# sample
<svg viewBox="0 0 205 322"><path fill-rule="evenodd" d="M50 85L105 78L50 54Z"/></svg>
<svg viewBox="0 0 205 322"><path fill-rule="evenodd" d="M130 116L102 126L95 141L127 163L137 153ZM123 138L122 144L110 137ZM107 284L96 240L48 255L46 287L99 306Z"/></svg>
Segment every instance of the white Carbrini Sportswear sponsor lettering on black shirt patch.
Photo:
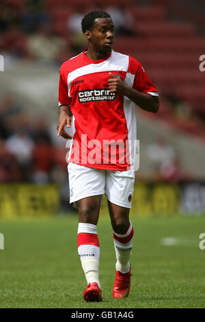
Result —
<svg viewBox="0 0 205 322"><path fill-rule="evenodd" d="M79 90L79 102L87 101L115 101L116 94L109 92L108 88L96 88L93 90Z"/></svg>

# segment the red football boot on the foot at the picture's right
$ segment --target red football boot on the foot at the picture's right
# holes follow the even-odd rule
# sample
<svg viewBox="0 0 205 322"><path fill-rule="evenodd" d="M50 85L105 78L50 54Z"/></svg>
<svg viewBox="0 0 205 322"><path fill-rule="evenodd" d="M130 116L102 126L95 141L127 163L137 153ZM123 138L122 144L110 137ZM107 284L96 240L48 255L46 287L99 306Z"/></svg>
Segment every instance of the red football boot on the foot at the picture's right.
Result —
<svg viewBox="0 0 205 322"><path fill-rule="evenodd" d="M113 286L113 298L124 299L128 297L131 288L131 269L128 273L116 271L115 284Z"/></svg>

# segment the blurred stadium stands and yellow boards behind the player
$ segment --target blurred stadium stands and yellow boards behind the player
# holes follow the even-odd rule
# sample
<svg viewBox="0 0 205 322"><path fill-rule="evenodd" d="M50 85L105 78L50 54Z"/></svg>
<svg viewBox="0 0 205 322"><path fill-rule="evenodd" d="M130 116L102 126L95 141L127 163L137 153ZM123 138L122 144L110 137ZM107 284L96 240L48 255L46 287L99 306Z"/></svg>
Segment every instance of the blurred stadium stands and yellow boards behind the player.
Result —
<svg viewBox="0 0 205 322"><path fill-rule="evenodd" d="M137 58L161 97L157 114L137 108L132 212L205 214L205 1L1 0L0 217L73 211L56 136L59 66L85 47L81 18L91 10L111 14L113 49Z"/></svg>

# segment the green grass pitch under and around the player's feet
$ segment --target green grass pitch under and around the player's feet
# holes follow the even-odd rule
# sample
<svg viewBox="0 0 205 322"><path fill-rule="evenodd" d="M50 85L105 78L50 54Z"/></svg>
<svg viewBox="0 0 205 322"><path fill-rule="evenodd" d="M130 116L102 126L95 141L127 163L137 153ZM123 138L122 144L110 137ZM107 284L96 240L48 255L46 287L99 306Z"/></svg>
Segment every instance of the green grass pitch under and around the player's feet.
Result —
<svg viewBox="0 0 205 322"><path fill-rule="evenodd" d="M86 303L86 282L77 254L77 214L1 220L5 249L0 250L0 307L204 308L205 249L199 248L199 236L205 232L205 217L131 215L131 221L135 240L129 297L112 298L115 251L109 217L100 214L103 301Z"/></svg>

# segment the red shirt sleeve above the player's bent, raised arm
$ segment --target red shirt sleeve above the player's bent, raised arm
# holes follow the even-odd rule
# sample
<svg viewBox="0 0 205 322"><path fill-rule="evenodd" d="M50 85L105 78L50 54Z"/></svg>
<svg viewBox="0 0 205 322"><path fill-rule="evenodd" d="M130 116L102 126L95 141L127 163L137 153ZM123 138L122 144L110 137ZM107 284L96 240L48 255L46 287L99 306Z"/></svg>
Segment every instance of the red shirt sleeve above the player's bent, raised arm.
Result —
<svg viewBox="0 0 205 322"><path fill-rule="evenodd" d="M158 92L154 84L150 81L143 66L139 63L135 79L133 82L133 88L139 92L148 92L151 95L158 96Z"/></svg>

